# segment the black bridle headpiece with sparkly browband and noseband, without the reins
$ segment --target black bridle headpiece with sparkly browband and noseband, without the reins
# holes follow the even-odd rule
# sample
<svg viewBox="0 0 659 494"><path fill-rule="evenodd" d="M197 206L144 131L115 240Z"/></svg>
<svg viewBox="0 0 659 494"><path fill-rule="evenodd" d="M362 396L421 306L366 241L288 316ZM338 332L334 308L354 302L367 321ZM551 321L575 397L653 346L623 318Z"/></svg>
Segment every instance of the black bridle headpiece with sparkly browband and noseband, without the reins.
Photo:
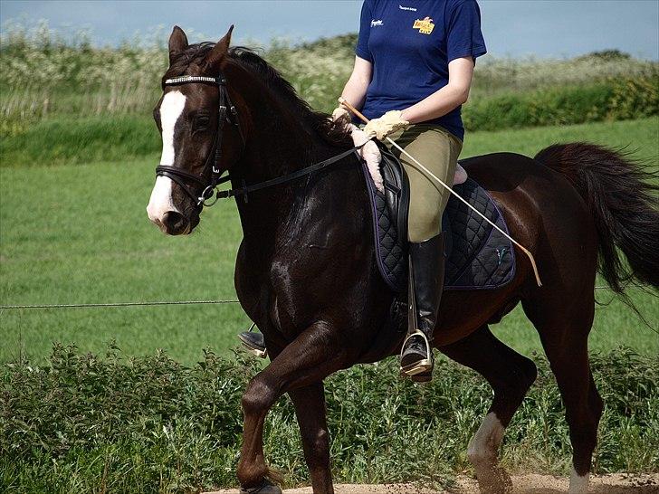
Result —
<svg viewBox="0 0 659 494"><path fill-rule="evenodd" d="M224 123L228 122L238 129L240 138L243 141L243 147L244 136L243 131L240 128L240 122L238 121L238 112L229 99L229 92L226 90L226 80L222 74L220 74L218 77L182 75L173 79L167 79L167 81L165 81L165 86L179 86L182 84L197 83L215 84L219 90L217 133L215 134L213 149L211 149L211 152L208 154L208 157L205 160L203 174L198 176L196 174L187 172L184 169L177 168L176 166L158 165L156 166L156 176L167 176L167 178L170 178L176 182L181 186L186 194L189 195L193 201L195 201L196 207L201 208L203 206L211 206L215 204L217 199L219 199L219 195L216 196L215 200L210 204L206 203L206 201L213 197L213 191L217 185L224 184L224 182L227 182L230 179L229 176L222 177L223 172L220 169ZM206 178L206 176L208 178ZM189 186L190 184L193 186L199 185L202 189L201 195L196 195L194 190L191 190Z"/></svg>

